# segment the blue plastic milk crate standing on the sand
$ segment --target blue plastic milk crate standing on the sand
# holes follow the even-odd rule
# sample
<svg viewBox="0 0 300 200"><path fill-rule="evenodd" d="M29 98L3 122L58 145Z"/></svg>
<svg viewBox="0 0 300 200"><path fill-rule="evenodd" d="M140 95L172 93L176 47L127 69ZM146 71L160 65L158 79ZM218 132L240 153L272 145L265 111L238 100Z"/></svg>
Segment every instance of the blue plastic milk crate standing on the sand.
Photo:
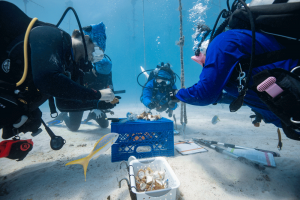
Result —
<svg viewBox="0 0 300 200"><path fill-rule="evenodd" d="M112 162L128 160L130 156L174 156L173 121L166 118L157 121L112 122L111 132L119 134L118 140L111 147Z"/></svg>

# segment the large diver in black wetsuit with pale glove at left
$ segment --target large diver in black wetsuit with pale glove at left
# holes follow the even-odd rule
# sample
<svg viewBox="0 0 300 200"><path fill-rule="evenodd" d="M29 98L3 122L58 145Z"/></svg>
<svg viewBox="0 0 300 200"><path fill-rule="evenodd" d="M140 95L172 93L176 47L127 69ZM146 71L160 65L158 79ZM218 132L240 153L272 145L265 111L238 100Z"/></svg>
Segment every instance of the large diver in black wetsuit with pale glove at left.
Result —
<svg viewBox="0 0 300 200"><path fill-rule="evenodd" d="M55 25L36 21L29 35L29 67L25 82L21 79L23 39L31 18L14 4L0 1L0 128L2 138L8 139L20 132L37 132L42 113L39 106L49 97L56 97L57 107L64 111L109 109L115 105L110 89L101 91L85 88L76 81L80 70L91 66L99 58L94 44L85 37L89 65L84 62L84 44L80 37L72 38ZM63 104L60 101L73 101ZM84 102L84 103L83 103ZM28 119L24 119L24 117ZM16 126L17 125L17 126Z"/></svg>

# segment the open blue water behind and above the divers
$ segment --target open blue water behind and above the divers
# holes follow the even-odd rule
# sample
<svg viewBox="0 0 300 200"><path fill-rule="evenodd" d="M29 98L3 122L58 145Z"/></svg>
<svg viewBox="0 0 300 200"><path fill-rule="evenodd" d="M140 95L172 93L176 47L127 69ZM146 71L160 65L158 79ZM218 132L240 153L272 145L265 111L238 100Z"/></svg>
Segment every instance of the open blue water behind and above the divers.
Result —
<svg viewBox="0 0 300 200"><path fill-rule="evenodd" d="M27 15L53 24L59 21L67 8L67 1L33 1L39 5L29 1ZM10 2L25 11L23 1L12 0ZM105 53L112 59L115 90L126 90L126 94L121 95L122 104L141 104L139 97L142 88L136 81L137 75L141 72L140 66L145 69L153 69L160 62L169 62L173 66L173 71L180 76L180 48L175 44L180 37L178 0L144 0L146 67L144 66L142 0L73 0L72 2L83 27L101 21L107 27ZM195 5L201 8L207 6L207 10L193 18L190 15L193 13L191 9ZM191 60L191 56L194 55L192 50L193 28L199 21L199 17L212 28L219 11L225 6L225 1L220 0L182 0L186 87L199 80L202 70L200 65ZM75 17L71 12L67 14L60 28L69 34L72 34L74 29L78 29ZM141 84L144 84L143 75L140 80ZM179 81L176 85L180 88Z"/></svg>

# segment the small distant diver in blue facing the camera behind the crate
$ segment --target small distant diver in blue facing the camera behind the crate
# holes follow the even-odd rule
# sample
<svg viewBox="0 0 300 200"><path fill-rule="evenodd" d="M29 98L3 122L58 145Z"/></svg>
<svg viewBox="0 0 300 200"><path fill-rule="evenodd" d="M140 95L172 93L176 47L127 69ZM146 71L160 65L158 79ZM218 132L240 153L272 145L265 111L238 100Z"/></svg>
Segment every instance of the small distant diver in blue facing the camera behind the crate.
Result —
<svg viewBox="0 0 300 200"><path fill-rule="evenodd" d="M172 117L173 110L177 103L170 98L170 92L176 90L176 74L172 71L170 64L161 63L149 76L141 96L141 102L149 109L156 109L158 112L167 110L169 117Z"/></svg>

